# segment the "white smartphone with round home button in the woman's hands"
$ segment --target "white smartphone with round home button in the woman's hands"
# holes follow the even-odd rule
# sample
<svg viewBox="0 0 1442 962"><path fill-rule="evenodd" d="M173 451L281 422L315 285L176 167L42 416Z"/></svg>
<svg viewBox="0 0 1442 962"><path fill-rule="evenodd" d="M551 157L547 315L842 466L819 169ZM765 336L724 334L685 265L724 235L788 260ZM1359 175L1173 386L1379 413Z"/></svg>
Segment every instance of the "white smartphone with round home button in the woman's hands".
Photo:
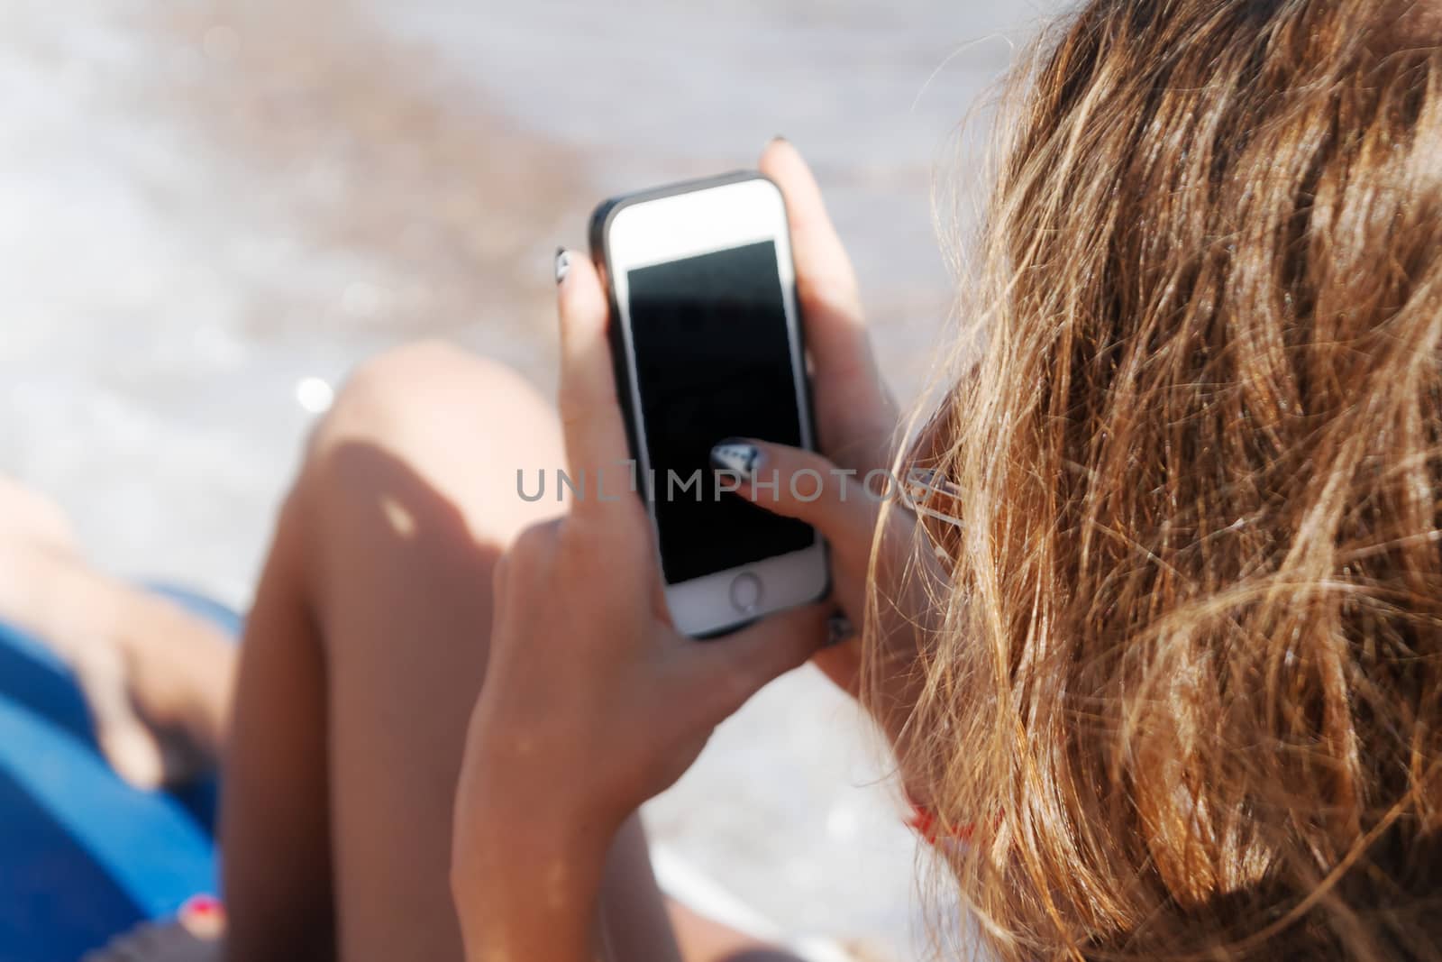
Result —
<svg viewBox="0 0 1442 962"><path fill-rule="evenodd" d="M816 446L780 189L735 173L607 200L591 255L610 288L617 395L676 627L724 635L825 597L816 531L728 492L709 460L731 437ZM756 500L771 490L757 486Z"/></svg>

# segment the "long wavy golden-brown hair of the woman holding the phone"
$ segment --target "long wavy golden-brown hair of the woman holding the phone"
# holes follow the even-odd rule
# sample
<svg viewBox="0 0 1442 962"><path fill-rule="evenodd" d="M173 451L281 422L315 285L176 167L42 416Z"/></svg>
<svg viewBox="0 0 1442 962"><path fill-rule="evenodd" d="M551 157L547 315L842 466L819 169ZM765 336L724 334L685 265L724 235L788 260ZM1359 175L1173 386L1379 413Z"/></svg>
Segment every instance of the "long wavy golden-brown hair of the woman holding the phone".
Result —
<svg viewBox="0 0 1442 962"><path fill-rule="evenodd" d="M934 467L921 773L1005 959L1442 959L1442 13L1040 42Z"/></svg>

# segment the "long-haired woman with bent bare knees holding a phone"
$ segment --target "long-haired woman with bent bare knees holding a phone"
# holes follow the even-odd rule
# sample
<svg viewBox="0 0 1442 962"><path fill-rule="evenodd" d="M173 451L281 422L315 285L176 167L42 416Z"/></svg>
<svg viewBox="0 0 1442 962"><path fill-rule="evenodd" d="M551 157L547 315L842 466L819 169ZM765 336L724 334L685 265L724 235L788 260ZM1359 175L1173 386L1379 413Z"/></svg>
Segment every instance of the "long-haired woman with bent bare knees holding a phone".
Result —
<svg viewBox="0 0 1442 962"><path fill-rule="evenodd" d="M1442 958L1439 37L1435 0L1086 3L1019 84L910 444L766 150L825 459L758 457L934 470L959 522L763 502L831 541L859 640L822 648L832 606L678 637L640 505L515 496L624 457L584 258L559 418L438 346L362 371L248 623L229 956L679 958L634 812L813 656L999 958Z"/></svg>

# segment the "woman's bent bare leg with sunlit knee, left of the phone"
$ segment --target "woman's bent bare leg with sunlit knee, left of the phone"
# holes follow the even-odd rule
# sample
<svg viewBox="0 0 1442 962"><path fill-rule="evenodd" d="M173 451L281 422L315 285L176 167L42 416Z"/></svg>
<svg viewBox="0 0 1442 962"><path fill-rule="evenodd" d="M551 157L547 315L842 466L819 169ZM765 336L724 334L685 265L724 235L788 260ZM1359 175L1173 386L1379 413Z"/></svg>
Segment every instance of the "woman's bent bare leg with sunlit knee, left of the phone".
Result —
<svg viewBox="0 0 1442 962"><path fill-rule="evenodd" d="M558 511L519 498L516 470L531 486L562 464L549 405L450 348L392 352L342 392L242 649L222 809L231 958L460 958L451 800L492 568ZM669 937L639 826L617 848L609 922Z"/></svg>

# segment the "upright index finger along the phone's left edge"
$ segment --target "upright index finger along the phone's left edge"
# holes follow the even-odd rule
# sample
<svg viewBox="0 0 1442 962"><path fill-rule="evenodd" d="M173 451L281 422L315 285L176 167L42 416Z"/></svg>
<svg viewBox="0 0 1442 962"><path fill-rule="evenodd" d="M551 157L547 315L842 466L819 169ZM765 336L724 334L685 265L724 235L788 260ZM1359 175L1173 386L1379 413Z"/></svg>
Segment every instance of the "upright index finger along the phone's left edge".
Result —
<svg viewBox="0 0 1442 962"><path fill-rule="evenodd" d="M557 255L558 264L562 257L567 270L557 286L561 430L572 482L583 487L574 498L572 512L588 515L624 498L634 500L630 453L606 333L610 313L606 290L590 260L562 251Z"/></svg>

